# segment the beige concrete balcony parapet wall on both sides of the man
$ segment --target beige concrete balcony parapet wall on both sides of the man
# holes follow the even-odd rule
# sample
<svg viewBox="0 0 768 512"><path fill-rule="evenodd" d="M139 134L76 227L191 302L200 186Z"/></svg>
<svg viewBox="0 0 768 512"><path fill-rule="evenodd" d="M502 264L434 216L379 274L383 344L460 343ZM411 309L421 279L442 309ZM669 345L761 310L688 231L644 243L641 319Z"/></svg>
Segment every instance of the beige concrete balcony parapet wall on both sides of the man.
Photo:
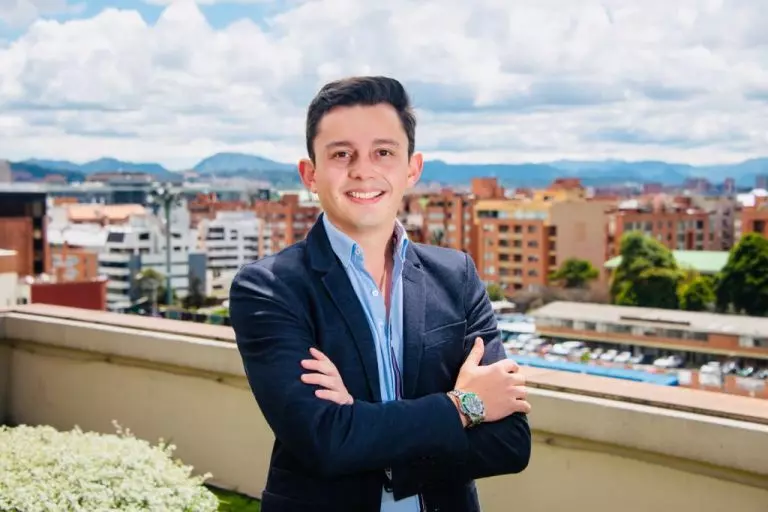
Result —
<svg viewBox="0 0 768 512"><path fill-rule="evenodd" d="M230 328L53 306L0 313L0 420L114 432L112 420L258 497L273 436ZM524 368L534 431L483 510L764 512L768 400Z"/></svg>

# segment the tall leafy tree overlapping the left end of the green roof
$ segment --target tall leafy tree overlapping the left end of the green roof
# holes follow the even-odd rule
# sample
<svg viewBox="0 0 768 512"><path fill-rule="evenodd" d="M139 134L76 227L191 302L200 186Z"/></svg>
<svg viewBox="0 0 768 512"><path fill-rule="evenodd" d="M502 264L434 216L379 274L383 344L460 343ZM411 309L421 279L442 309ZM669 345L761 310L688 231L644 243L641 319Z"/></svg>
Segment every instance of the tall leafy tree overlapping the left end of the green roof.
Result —
<svg viewBox="0 0 768 512"><path fill-rule="evenodd" d="M677 309L678 285L684 273L672 252L639 232L621 239L621 263L611 281L611 299L621 306Z"/></svg>

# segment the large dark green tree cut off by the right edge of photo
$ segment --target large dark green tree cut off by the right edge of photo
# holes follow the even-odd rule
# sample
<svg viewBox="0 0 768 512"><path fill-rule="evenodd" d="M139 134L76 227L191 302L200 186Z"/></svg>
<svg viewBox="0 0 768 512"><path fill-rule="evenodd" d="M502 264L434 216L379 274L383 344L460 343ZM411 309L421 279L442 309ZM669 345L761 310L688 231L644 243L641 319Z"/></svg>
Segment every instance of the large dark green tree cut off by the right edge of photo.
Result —
<svg viewBox="0 0 768 512"><path fill-rule="evenodd" d="M744 235L731 249L715 287L718 311L768 314L768 240L758 233Z"/></svg>

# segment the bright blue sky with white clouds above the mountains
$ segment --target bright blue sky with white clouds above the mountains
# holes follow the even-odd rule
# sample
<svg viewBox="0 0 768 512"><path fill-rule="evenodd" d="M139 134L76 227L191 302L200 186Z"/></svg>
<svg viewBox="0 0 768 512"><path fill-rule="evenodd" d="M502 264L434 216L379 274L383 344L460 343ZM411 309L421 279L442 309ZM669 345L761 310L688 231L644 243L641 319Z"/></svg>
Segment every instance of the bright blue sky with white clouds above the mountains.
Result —
<svg viewBox="0 0 768 512"><path fill-rule="evenodd" d="M395 77L449 162L768 156L765 0L0 0L0 158L305 156L327 81Z"/></svg>

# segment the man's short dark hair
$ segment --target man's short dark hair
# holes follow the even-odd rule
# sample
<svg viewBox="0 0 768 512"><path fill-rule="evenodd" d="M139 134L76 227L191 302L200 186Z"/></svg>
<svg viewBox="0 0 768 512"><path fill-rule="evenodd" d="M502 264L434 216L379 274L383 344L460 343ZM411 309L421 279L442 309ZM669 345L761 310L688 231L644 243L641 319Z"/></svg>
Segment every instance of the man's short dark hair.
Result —
<svg viewBox="0 0 768 512"><path fill-rule="evenodd" d="M354 76L325 84L307 109L307 153L315 161L314 142L323 116L335 107L388 103L397 111L408 136L408 158L416 146L416 116L403 84L385 76Z"/></svg>

